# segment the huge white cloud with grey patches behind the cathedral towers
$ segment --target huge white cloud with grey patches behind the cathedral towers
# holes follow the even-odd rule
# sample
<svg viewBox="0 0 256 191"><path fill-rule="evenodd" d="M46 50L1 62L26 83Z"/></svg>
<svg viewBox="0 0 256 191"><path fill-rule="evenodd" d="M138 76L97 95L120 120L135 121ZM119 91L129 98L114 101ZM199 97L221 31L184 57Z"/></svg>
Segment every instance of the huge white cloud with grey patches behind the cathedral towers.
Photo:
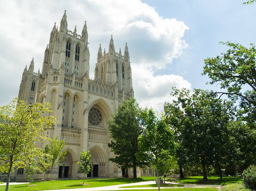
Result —
<svg viewBox="0 0 256 191"><path fill-rule="evenodd" d="M54 22L59 25L63 11L67 10L68 28L81 33L87 21L90 47L90 76L98 46L108 50L113 34L116 51L124 52L128 43L132 62L133 87L142 105L161 109L170 99L171 86L188 87L181 76L155 75L167 68L188 47L183 39L188 27L175 18L162 18L155 9L139 0L87 0L87 1L6 1L0 6L0 105L7 104L18 95L19 83L26 64L32 57L35 70L41 68L43 54ZM6 83L9 82L9 83ZM10 85L11 83L11 85ZM153 91L151 91L151 89Z"/></svg>

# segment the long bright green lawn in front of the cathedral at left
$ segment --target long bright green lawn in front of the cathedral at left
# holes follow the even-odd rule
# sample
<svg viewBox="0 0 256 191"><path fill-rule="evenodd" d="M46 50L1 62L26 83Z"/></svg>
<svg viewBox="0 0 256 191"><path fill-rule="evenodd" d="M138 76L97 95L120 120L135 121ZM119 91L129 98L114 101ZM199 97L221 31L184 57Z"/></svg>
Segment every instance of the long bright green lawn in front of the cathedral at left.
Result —
<svg viewBox="0 0 256 191"><path fill-rule="evenodd" d="M51 180L43 182L33 182L32 185L28 184L22 185L10 185L10 191L29 191L29 190L54 190L54 189L72 189L72 188L92 188L100 186L112 186L119 184L137 183L141 181L155 180L155 177L139 177L137 179L133 178L95 178L95 179L85 179L85 184L83 186L83 180ZM0 186L0 191L4 191L5 186Z"/></svg>

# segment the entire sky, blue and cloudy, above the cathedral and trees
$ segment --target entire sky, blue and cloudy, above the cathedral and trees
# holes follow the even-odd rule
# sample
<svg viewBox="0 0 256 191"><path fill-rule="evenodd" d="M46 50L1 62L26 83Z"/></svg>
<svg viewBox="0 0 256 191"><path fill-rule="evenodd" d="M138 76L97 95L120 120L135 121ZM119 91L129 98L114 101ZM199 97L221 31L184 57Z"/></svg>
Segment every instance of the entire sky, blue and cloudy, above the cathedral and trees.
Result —
<svg viewBox="0 0 256 191"><path fill-rule="evenodd" d="M245 0L5 1L0 6L0 106L18 96L22 73L34 57L35 71L54 22L67 10L68 29L81 34L87 21L90 73L99 44L124 53L127 42L134 95L143 107L163 109L171 88L218 90L202 76L203 59L227 50L219 41L256 42L256 3Z"/></svg>

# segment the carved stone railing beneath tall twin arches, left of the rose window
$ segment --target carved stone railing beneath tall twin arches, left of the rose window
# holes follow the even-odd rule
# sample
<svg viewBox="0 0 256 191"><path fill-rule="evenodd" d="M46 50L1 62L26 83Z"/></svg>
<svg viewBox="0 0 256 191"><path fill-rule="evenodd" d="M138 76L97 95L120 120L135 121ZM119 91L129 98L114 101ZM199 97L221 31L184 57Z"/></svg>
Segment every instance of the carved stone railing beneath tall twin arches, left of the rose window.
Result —
<svg viewBox="0 0 256 191"><path fill-rule="evenodd" d="M61 140L64 139L66 144L80 145L81 129L79 128L61 128Z"/></svg>

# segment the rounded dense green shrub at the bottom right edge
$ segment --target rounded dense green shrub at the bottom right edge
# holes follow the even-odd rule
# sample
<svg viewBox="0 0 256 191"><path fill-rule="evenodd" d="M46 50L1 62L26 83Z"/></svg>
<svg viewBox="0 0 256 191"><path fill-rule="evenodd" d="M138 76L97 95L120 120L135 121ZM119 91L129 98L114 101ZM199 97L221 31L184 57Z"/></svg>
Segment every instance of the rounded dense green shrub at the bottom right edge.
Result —
<svg viewBox="0 0 256 191"><path fill-rule="evenodd" d="M250 165L242 175L244 186L248 189L256 190L256 166Z"/></svg>

